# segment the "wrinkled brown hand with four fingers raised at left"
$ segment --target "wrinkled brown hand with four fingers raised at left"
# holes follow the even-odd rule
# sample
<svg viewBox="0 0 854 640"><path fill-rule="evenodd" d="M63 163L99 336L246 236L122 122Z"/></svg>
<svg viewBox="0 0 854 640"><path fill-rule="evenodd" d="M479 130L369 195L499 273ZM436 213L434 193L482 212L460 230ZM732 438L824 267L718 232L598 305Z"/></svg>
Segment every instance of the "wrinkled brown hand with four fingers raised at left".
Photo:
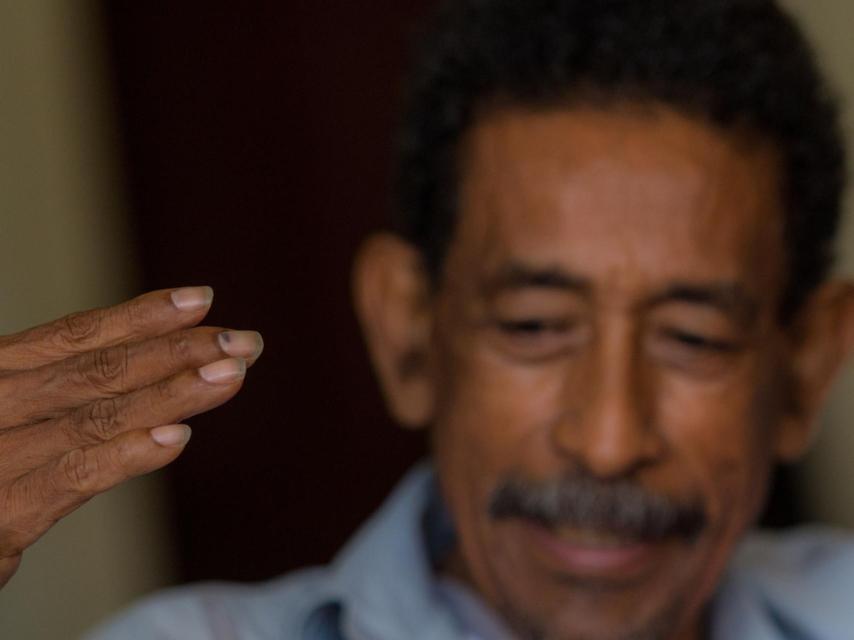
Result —
<svg viewBox="0 0 854 640"><path fill-rule="evenodd" d="M263 343L196 326L212 298L156 291L0 337L0 587L55 522L172 462L179 423L240 390Z"/></svg>

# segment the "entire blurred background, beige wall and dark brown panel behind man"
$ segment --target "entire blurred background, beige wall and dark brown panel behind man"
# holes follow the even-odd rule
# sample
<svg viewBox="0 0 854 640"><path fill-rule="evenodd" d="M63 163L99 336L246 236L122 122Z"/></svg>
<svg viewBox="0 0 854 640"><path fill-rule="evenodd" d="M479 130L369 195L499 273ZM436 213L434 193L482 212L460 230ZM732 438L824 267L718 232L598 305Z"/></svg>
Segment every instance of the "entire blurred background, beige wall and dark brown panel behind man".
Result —
<svg viewBox="0 0 854 640"><path fill-rule="evenodd" d="M0 637L64 640L158 586L323 562L421 455L384 415L347 271L385 218L405 43L429 4L0 1L0 332L206 283L212 322L267 341L168 473L27 552ZM854 8L786 4L850 102ZM849 526L852 373L796 473L801 510Z"/></svg>

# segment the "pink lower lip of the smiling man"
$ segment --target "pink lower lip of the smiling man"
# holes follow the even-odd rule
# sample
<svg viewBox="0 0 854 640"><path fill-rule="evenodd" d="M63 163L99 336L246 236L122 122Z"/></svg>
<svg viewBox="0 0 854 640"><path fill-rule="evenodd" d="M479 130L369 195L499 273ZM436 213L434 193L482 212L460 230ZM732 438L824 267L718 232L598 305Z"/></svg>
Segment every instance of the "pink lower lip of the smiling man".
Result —
<svg viewBox="0 0 854 640"><path fill-rule="evenodd" d="M569 542L548 529L524 524L536 548L562 571L577 576L632 578L651 567L659 544L634 542L617 546L594 546Z"/></svg>

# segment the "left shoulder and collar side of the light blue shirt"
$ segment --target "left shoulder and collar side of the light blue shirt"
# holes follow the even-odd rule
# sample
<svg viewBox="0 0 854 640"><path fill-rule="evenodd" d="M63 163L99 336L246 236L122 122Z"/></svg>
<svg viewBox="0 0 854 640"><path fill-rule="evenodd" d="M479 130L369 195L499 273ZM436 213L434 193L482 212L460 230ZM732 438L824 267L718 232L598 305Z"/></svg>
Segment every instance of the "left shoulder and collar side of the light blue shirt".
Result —
<svg viewBox="0 0 854 640"><path fill-rule="evenodd" d="M430 467L417 466L328 567L261 585L165 591L88 640L328 640L353 628L370 629L368 635L381 628L388 637L451 637L446 631L454 623L435 598L424 530L434 484Z"/></svg>

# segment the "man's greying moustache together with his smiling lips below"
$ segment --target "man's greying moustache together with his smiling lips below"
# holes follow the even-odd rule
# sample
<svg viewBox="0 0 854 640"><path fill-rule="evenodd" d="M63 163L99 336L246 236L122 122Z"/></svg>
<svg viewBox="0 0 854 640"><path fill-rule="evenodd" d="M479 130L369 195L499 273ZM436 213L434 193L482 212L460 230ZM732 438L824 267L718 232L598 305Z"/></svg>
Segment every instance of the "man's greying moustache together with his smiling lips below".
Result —
<svg viewBox="0 0 854 640"><path fill-rule="evenodd" d="M700 500L581 472L540 482L505 478L488 512L535 566L559 581L602 588L645 584L673 568L707 525Z"/></svg>

